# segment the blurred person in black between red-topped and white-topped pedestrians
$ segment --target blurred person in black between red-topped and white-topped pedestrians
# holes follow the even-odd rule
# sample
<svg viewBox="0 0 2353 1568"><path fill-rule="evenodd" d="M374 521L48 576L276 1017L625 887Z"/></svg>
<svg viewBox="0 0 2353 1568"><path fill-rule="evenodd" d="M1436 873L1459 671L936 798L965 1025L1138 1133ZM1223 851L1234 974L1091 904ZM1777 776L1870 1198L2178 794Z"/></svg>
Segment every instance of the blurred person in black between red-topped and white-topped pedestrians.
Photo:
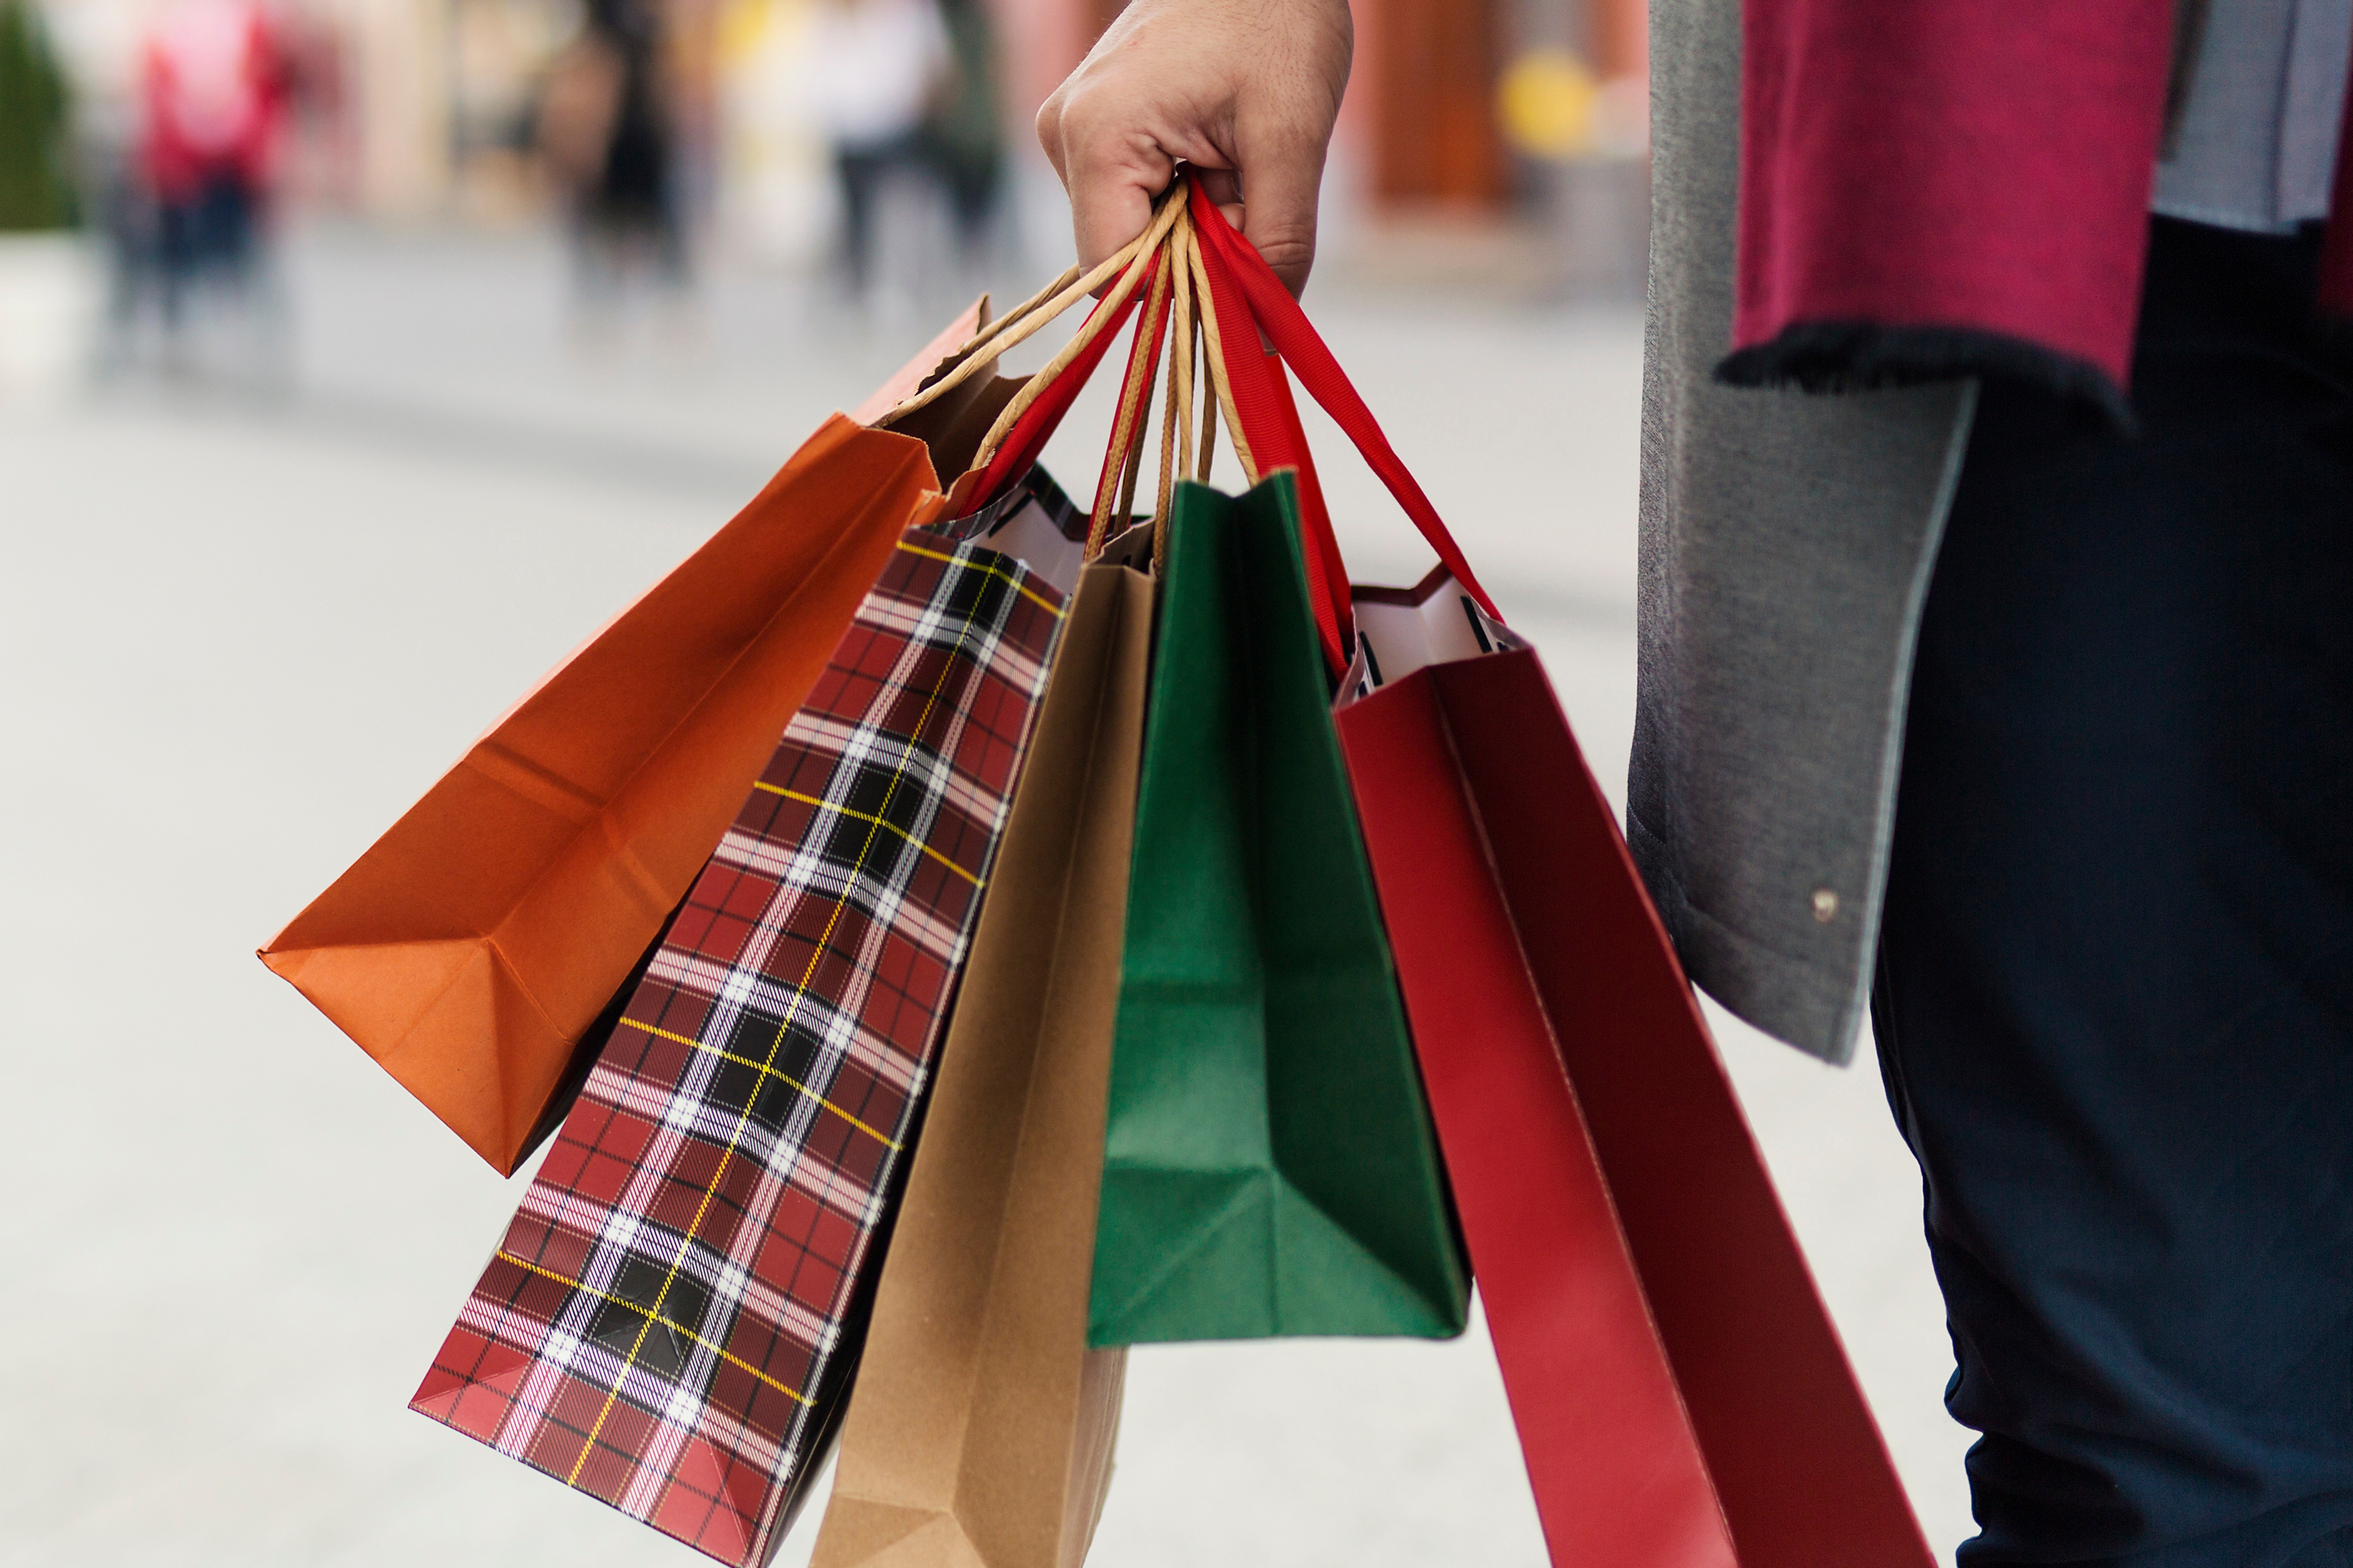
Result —
<svg viewBox="0 0 2353 1568"><path fill-rule="evenodd" d="M584 322L605 324L633 277L682 294L678 103L659 0L588 0L548 68L536 139L569 207Z"/></svg>

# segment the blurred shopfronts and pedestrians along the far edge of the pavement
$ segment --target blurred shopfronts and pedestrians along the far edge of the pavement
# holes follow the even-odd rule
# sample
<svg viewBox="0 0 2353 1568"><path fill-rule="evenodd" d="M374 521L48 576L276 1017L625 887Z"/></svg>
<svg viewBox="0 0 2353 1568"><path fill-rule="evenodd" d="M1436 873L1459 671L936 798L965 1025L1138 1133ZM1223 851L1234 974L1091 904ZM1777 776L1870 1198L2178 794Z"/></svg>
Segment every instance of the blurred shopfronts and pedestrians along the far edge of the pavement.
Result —
<svg viewBox="0 0 2353 1568"><path fill-rule="evenodd" d="M459 270L532 256L579 353L711 357L746 280L798 306L779 327L908 329L1059 263L1028 122L1115 12L0 0L0 390L308 390L306 327L393 237ZM1640 5L1358 12L1327 266L1638 296Z"/></svg>

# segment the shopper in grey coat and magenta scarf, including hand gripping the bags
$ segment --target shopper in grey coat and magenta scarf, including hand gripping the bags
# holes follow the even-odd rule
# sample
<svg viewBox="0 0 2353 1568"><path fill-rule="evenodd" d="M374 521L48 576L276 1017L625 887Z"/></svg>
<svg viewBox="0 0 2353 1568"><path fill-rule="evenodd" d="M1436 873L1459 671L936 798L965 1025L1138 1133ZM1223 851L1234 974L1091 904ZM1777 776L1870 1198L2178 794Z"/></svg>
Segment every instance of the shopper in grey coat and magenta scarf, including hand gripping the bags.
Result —
<svg viewBox="0 0 2353 1568"><path fill-rule="evenodd" d="M2353 1563L2353 0L1649 26L1659 914L1871 1011L1962 1568ZM1080 261L1188 160L1301 287L1348 54L1134 0L1038 118Z"/></svg>

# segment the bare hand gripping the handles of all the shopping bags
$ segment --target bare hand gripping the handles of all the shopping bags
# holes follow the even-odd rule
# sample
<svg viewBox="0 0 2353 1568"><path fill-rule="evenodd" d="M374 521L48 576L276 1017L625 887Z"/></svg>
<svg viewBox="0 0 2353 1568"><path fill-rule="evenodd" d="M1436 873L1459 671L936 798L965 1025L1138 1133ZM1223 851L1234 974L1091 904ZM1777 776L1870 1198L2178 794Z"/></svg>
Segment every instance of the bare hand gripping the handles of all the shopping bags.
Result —
<svg viewBox="0 0 2353 1568"><path fill-rule="evenodd" d="M1144 233L1181 160L1299 294L1353 47L1348 0L1134 0L1038 110L1080 266Z"/></svg>

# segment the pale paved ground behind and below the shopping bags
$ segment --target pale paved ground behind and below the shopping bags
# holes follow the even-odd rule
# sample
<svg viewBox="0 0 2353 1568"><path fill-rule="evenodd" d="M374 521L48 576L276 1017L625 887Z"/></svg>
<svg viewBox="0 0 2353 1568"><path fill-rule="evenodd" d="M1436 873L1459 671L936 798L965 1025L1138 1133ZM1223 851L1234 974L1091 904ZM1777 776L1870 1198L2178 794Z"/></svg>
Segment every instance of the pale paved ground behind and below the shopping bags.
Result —
<svg viewBox="0 0 2353 1568"><path fill-rule="evenodd" d="M0 1559L687 1563L402 1410L518 1187L252 959L588 628L927 336L732 280L699 348L565 350L534 240L315 235L294 395L0 414ZM1640 322L1325 289L1341 360L1602 783L1633 724ZM1071 418L1061 473L1092 475ZM1318 442L1360 576L1417 574ZM1967 1530L1918 1175L1864 1065L1722 1051L1939 1552ZM1791 1441L1805 1441L1793 1432ZM798 1563L807 1530L784 1559ZM1492 1356L1134 1356L1096 1563L1544 1561Z"/></svg>

